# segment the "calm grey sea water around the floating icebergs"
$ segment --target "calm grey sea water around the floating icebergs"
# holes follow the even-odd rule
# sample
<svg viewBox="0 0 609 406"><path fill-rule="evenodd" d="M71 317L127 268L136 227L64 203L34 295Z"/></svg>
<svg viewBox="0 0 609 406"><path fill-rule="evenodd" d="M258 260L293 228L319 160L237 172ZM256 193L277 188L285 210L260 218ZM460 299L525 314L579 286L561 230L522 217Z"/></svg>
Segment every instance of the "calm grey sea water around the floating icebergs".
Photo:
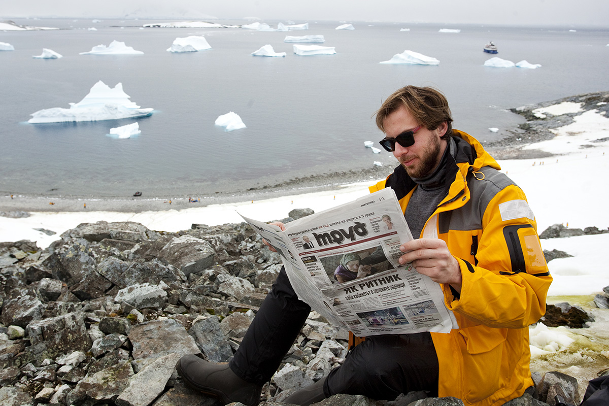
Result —
<svg viewBox="0 0 609 406"><path fill-rule="evenodd" d="M375 155L363 143L382 138L372 114L401 86L441 89L454 127L481 141L524 121L509 108L609 87L609 30L354 22L356 29L348 31L335 30L338 22L314 21L308 31L289 33L139 28L149 22L19 20L62 30L0 32L0 41L15 46L0 52L1 193L125 197L137 190L171 197L272 186L373 161L389 172L392 155ZM324 35L324 45L337 54L301 57L283 42L286 35L314 34ZM188 35L205 35L213 49L166 51ZM144 55L79 55L113 40ZM492 56L482 52L489 40L498 45L497 56L542 68L484 67ZM250 55L264 44L287 57ZM43 47L63 58L32 58ZM406 49L440 65L379 64ZM112 87L121 82L133 102L155 109L138 119L141 135L106 136L133 119L27 124L37 110L79 102L98 80ZM229 111L247 128L227 133L216 127L216 118Z"/></svg>

